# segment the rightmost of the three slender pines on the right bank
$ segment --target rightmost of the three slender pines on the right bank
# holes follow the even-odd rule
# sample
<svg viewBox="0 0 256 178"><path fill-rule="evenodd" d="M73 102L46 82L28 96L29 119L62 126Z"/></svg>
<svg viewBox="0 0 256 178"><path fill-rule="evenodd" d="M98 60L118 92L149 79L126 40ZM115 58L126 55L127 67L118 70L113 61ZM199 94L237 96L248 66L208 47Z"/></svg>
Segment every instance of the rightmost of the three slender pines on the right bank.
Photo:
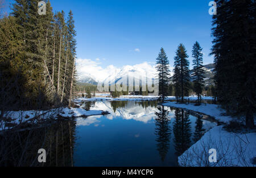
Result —
<svg viewBox="0 0 256 178"><path fill-rule="evenodd" d="M193 45L192 57L195 58L193 60L193 82L194 82L194 90L197 94L197 104L200 105L200 95L203 91L203 83L204 83L204 70L203 68L203 48L201 48L200 44L196 41Z"/></svg>

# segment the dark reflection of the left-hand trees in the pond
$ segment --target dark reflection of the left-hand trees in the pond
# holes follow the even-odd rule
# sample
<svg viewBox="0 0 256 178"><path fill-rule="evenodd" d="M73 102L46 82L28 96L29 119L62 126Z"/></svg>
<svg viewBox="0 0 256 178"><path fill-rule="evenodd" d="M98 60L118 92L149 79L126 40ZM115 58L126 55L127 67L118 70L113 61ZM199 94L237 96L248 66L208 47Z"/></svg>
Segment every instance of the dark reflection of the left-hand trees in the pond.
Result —
<svg viewBox="0 0 256 178"><path fill-rule="evenodd" d="M73 166L75 120L37 124L0 134L0 166ZM38 162L38 150L46 150L46 163Z"/></svg>

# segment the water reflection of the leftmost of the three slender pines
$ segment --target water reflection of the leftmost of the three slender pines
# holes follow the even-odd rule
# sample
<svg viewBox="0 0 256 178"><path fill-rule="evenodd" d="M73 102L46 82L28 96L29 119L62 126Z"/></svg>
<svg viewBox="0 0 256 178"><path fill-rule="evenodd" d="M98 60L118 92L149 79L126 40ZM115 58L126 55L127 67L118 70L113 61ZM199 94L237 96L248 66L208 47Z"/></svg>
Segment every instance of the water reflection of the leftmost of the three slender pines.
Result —
<svg viewBox="0 0 256 178"><path fill-rule="evenodd" d="M170 148L170 137L171 137L171 128L170 128L170 118L168 118L168 110L164 109L163 106L157 107L158 111L155 112L155 135L156 135L156 144L157 150L159 151L162 162L166 158L168 150Z"/></svg>

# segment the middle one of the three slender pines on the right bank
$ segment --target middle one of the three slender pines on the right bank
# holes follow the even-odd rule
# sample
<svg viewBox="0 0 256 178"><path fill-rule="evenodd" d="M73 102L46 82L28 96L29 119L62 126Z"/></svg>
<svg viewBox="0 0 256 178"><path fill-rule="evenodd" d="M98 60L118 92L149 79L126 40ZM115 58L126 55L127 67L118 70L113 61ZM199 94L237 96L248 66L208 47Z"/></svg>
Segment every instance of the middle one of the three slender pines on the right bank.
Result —
<svg viewBox="0 0 256 178"><path fill-rule="evenodd" d="M189 95L189 62L187 60L187 50L183 44L178 46L174 58L174 86L176 98L181 96L181 102L184 102L184 96Z"/></svg>

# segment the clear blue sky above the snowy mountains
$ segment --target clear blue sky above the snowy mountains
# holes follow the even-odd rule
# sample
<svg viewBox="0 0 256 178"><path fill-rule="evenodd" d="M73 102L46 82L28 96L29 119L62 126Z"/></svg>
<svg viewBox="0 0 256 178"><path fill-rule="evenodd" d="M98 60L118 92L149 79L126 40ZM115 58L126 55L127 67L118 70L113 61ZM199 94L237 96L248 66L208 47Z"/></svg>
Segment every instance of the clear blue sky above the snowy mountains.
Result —
<svg viewBox="0 0 256 178"><path fill-rule="evenodd" d="M102 67L155 63L161 47L170 64L183 43L191 50L195 41L209 56L212 16L210 0L52 0L53 11L73 11L77 31L77 58L97 61ZM97 60L96 60L97 59Z"/></svg>

